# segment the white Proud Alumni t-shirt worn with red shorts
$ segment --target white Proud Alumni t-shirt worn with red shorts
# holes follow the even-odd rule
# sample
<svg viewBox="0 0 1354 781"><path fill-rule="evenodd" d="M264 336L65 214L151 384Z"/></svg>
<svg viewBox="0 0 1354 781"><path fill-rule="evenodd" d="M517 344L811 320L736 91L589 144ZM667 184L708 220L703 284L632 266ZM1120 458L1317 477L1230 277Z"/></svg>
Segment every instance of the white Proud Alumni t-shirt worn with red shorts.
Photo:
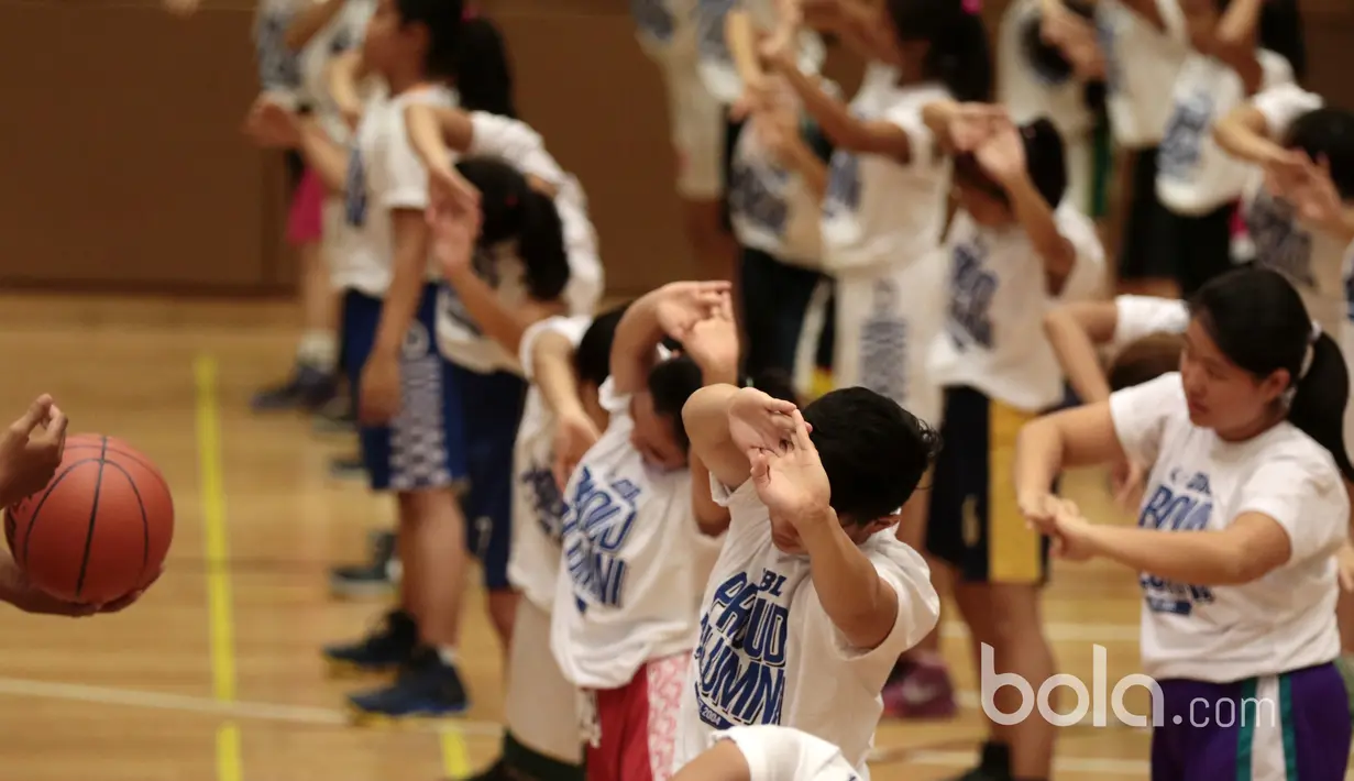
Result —
<svg viewBox="0 0 1354 781"><path fill-rule="evenodd" d="M720 543L696 525L691 470L658 471L630 443L631 398L603 383L611 422L565 489L550 647L581 689L619 689L645 662L696 646Z"/></svg>

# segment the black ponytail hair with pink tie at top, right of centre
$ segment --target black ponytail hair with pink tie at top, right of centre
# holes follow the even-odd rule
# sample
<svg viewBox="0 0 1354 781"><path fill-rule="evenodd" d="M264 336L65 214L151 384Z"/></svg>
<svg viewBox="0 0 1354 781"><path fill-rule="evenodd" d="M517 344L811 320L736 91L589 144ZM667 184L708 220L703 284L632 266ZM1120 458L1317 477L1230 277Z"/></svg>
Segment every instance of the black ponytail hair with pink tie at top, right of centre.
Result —
<svg viewBox="0 0 1354 781"><path fill-rule="evenodd" d="M922 61L926 79L940 81L956 100L992 99L992 53L987 28L967 0L888 0L899 42L930 43Z"/></svg>

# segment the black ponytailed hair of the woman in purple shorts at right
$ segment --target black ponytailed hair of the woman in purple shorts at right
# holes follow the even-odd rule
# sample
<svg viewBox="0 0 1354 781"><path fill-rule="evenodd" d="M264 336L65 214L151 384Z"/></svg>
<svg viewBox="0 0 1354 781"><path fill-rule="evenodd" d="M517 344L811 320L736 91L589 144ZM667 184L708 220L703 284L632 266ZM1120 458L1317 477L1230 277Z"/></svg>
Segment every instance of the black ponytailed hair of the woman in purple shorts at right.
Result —
<svg viewBox="0 0 1354 781"><path fill-rule="evenodd" d="M1335 340L1312 323L1297 290L1277 271L1242 268L1209 280L1189 307L1242 370L1262 379L1288 371L1288 421L1330 451L1345 479L1354 482L1345 449L1349 368Z"/></svg>

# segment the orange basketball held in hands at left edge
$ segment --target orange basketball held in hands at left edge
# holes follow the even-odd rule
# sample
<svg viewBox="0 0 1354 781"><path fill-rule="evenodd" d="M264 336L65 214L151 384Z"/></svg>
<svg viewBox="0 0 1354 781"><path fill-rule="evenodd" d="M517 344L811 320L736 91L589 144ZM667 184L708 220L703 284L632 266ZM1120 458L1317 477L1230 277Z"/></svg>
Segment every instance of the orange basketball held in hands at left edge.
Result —
<svg viewBox="0 0 1354 781"><path fill-rule="evenodd" d="M126 441L66 437L47 487L5 512L5 539L28 579L54 597L103 604L160 574L173 498L160 470Z"/></svg>

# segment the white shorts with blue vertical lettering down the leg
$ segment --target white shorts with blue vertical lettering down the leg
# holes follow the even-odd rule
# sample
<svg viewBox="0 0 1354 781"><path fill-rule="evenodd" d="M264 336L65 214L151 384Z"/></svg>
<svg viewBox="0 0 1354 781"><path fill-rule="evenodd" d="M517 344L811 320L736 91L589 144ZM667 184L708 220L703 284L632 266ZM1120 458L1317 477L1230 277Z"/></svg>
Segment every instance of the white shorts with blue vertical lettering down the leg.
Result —
<svg viewBox="0 0 1354 781"><path fill-rule="evenodd" d="M861 386L940 428L941 391L926 376L945 299L945 253L899 268L838 272L833 384Z"/></svg>

